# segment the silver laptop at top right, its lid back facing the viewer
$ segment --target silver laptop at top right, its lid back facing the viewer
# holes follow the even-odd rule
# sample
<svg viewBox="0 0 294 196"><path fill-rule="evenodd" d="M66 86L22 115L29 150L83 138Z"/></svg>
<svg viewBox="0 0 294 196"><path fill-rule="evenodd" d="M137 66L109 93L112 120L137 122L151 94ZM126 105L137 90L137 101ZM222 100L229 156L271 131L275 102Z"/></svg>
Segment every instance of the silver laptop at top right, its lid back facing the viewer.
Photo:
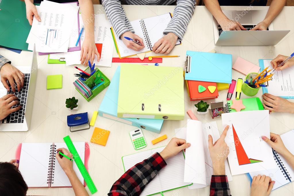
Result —
<svg viewBox="0 0 294 196"><path fill-rule="evenodd" d="M238 21L246 31L223 31L213 17L213 32L216 46L274 46L283 39L290 30L273 30L271 23L266 31L249 31L263 21L268 10L236 11L223 10L225 16Z"/></svg>

